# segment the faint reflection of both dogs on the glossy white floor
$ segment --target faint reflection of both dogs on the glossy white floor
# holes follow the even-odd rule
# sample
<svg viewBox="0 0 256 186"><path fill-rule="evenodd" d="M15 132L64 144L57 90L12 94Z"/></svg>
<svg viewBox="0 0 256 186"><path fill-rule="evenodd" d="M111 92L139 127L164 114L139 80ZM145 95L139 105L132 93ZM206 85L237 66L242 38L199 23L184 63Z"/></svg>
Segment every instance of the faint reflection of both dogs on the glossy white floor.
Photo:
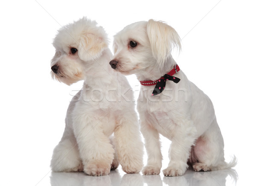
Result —
<svg viewBox="0 0 256 186"><path fill-rule="evenodd" d="M119 170L111 171L107 176L93 177L84 173L52 172L52 186L226 186L231 180L236 185L238 175L234 169L208 172L186 171L180 177L163 177L160 175L143 176L141 174L124 174Z"/></svg>

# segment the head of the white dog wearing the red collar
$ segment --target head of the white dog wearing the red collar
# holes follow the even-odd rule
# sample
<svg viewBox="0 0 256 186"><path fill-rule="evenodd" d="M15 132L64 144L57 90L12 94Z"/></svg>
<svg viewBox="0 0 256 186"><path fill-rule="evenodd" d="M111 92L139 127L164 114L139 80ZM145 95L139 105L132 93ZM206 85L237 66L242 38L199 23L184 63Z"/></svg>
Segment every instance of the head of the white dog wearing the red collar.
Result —
<svg viewBox="0 0 256 186"><path fill-rule="evenodd" d="M110 65L125 75L154 66L163 70L174 46L180 49L180 37L166 23L154 20L133 23L114 36Z"/></svg>

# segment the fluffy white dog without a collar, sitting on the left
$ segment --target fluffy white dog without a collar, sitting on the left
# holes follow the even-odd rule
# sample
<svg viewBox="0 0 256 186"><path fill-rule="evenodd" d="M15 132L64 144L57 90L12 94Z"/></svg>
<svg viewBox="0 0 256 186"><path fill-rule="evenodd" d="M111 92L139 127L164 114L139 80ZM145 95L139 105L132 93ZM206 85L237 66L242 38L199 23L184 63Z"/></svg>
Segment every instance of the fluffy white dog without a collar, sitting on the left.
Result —
<svg viewBox="0 0 256 186"><path fill-rule="evenodd" d="M61 28L53 46L52 77L68 85L84 80L84 86L70 102L52 171L100 176L120 163L127 173L140 172L143 142L133 93L125 76L108 64L113 55L104 29L84 17Z"/></svg>

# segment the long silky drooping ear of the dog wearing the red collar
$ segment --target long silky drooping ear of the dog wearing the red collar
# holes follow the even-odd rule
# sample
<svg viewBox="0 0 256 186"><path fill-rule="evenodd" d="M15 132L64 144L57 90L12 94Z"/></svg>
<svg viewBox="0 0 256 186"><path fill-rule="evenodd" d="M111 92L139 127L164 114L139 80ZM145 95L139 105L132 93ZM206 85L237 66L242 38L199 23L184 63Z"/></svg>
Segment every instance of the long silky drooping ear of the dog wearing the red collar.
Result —
<svg viewBox="0 0 256 186"><path fill-rule="evenodd" d="M180 37L174 28L161 21L148 20L147 34L157 64L163 67L171 50L180 49Z"/></svg>

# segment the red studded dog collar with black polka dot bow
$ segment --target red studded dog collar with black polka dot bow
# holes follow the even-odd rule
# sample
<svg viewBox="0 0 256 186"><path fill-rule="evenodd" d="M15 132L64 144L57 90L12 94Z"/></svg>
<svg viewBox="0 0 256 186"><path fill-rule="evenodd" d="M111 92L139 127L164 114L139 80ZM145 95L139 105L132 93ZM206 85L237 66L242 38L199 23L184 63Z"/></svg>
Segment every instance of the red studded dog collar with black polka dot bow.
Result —
<svg viewBox="0 0 256 186"><path fill-rule="evenodd" d="M178 83L180 81L179 78L176 78L172 75L174 75L175 73L177 73L178 71L180 71L180 67L176 64L174 66L174 68L167 74L165 74L164 76L162 76L160 79L157 79L155 81L140 81L141 85L144 86L151 86L151 85L156 85L154 87L154 91L152 93L152 96L155 96L157 94L160 94L161 92L163 92L165 86L166 86L166 81L170 80L173 81L175 83Z"/></svg>

